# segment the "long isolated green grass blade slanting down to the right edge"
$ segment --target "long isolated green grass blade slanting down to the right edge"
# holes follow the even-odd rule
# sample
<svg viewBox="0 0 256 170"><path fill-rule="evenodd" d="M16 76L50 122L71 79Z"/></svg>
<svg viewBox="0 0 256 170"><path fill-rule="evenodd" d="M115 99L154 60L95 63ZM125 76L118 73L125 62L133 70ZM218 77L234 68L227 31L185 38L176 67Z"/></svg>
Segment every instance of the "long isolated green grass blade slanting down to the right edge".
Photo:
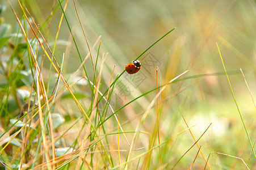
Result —
<svg viewBox="0 0 256 170"><path fill-rule="evenodd" d="M218 45L217 42L216 42L216 45L217 45L218 52L219 52L219 54L220 54L220 59L221 59L221 62L222 62L222 64L223 64L223 68L224 68L225 73L226 73L226 67L225 67L223 58L222 58L222 56L221 56L220 49L219 49L219 45ZM231 86L231 84L230 84L230 81L229 81L229 78L228 78L228 74L227 74L227 73L226 73L226 79L228 79L228 84L229 84L230 90L231 90L231 92L232 92L232 96L233 96L233 98L234 98L234 103L236 103L237 111L238 111L239 116L240 116L240 118L241 118L242 124L244 125L247 138L248 138L248 140L249 140L249 142L250 142L250 145L251 145L251 149L253 150L254 156L255 156L255 158L256 158L256 154L255 154L255 151L254 151L254 148L253 148L253 143L251 143L250 135L249 135L249 133L248 133L248 131L247 131L247 129L246 129L244 119L242 118L242 114L241 114L240 109L239 109L239 107L238 107L237 100L236 100L236 97L234 96L234 92L233 92L232 86Z"/></svg>

